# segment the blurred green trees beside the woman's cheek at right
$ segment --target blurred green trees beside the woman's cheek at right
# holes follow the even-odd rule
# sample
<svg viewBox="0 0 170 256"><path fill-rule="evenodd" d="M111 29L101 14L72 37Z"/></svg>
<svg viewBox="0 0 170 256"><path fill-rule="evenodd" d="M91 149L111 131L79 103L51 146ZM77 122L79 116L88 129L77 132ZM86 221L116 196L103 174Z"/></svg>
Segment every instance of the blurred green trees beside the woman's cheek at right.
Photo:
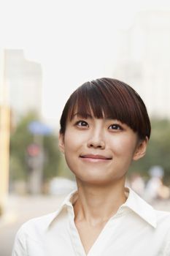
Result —
<svg viewBox="0 0 170 256"><path fill-rule="evenodd" d="M148 176L152 165L161 165L165 171L165 183L170 183L170 121L167 119L152 119L151 138L146 155L133 162L130 173L138 171Z"/></svg>

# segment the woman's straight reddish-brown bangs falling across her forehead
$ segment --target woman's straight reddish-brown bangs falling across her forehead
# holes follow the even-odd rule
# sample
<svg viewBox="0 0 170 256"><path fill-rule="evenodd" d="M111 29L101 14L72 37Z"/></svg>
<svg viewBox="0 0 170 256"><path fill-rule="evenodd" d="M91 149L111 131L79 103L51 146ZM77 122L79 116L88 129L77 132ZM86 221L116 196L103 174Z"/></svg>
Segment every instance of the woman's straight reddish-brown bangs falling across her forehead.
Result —
<svg viewBox="0 0 170 256"><path fill-rule="evenodd" d="M131 105L120 97L120 92L115 91L116 94L112 94L108 87L98 87L93 81L88 83L83 84L81 90L77 89L74 94L74 104L69 109L69 120L71 121L75 114L82 118L88 118L89 115L95 118L112 118L134 129Z"/></svg>

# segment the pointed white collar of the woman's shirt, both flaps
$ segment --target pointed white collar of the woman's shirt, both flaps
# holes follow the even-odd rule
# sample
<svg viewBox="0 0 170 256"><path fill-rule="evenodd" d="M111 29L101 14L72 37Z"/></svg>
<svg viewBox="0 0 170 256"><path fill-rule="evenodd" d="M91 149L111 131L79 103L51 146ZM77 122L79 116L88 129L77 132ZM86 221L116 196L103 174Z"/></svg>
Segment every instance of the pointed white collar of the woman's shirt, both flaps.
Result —
<svg viewBox="0 0 170 256"><path fill-rule="evenodd" d="M139 195L134 192L133 189L130 187L125 187L125 195L127 195L127 200L123 205L120 206L118 211L121 211L120 209L127 207L131 209L131 211L134 211L139 217L144 219L147 223L149 223L152 227L157 226L156 222L156 214L154 208L150 206L146 201L142 199L142 197L139 197ZM63 211L64 208L71 208L72 212L73 210L73 204L77 200L77 189L72 191L69 195L66 196L66 198L63 200L63 203L61 203L61 206L58 208L58 211L55 211L53 213L53 219L50 222L50 226L55 221L55 218L58 217L59 214Z"/></svg>

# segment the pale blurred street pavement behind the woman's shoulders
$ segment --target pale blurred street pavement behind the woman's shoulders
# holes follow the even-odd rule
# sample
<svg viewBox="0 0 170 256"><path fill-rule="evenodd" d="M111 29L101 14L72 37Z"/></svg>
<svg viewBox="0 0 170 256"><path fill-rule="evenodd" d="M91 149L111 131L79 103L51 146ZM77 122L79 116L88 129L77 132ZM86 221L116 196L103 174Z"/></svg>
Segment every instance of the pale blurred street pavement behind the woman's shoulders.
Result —
<svg viewBox="0 0 170 256"><path fill-rule="evenodd" d="M55 211L65 196L10 195L6 212L0 218L0 256L11 255L15 234L23 222ZM170 211L170 200L155 200L152 206Z"/></svg>

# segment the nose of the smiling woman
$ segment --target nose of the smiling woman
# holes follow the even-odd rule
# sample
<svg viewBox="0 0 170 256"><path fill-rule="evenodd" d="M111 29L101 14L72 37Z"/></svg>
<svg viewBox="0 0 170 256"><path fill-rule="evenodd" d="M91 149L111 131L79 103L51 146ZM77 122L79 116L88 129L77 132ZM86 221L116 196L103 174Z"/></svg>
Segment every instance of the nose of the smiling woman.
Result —
<svg viewBox="0 0 170 256"><path fill-rule="evenodd" d="M103 136L99 135L97 132L91 135L88 140L88 148L105 148L105 141Z"/></svg>

